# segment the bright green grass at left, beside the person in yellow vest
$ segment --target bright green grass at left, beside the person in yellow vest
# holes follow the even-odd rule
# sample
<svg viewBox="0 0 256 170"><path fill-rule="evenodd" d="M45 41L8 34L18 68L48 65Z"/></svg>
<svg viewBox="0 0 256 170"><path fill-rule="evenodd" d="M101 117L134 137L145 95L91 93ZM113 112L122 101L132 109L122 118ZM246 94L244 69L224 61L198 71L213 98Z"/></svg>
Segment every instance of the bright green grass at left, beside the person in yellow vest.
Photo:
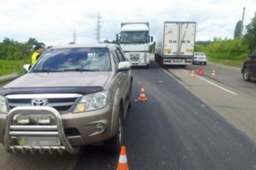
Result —
<svg viewBox="0 0 256 170"><path fill-rule="evenodd" d="M0 60L0 76L11 75L17 72L24 75L23 65L30 63L30 60Z"/></svg>

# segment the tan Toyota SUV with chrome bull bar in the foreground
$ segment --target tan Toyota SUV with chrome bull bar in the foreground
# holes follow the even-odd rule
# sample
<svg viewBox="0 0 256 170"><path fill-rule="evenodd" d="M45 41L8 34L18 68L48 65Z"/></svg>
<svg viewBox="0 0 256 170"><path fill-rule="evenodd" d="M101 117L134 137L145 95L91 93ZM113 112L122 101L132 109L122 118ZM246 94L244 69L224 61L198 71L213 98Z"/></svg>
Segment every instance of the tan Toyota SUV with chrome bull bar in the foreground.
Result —
<svg viewBox="0 0 256 170"><path fill-rule="evenodd" d="M7 152L78 154L89 144L120 152L133 76L118 45L51 47L29 68L0 88Z"/></svg>

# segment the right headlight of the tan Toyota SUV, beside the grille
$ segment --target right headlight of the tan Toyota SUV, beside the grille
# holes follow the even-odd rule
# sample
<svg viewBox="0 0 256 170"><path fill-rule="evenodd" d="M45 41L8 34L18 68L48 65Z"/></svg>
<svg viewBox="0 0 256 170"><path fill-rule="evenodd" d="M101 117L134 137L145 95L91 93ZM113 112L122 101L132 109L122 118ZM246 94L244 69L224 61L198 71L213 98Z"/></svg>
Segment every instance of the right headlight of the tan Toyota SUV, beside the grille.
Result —
<svg viewBox="0 0 256 170"><path fill-rule="evenodd" d="M73 113L104 108L107 105L108 90L90 95L84 95L74 108Z"/></svg>

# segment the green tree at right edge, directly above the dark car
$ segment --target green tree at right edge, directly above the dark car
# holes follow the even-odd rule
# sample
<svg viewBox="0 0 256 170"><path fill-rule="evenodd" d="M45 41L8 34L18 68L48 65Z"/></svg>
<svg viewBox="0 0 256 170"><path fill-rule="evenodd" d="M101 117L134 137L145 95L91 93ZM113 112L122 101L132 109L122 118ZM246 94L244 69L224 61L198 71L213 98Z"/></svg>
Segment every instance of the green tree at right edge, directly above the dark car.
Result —
<svg viewBox="0 0 256 170"><path fill-rule="evenodd" d="M247 32L244 34L242 42L248 44L250 52L256 49L256 16L252 18L250 24L246 26Z"/></svg>

